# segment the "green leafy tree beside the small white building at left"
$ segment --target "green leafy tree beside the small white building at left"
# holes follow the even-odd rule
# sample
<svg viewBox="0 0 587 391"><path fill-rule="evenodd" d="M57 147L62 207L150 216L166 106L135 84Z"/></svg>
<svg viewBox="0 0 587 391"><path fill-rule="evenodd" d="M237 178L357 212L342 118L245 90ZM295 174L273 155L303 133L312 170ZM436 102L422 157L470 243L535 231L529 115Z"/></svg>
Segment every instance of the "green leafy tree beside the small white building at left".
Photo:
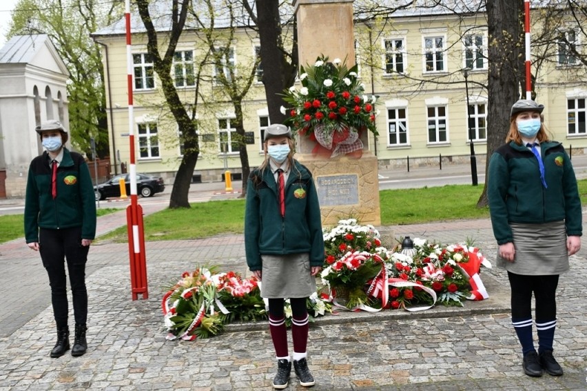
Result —
<svg viewBox="0 0 587 391"><path fill-rule="evenodd" d="M109 154L104 70L90 33L119 19L123 6L122 0L20 0L12 13L8 37L48 34L68 67L71 140L88 156L90 137L99 157Z"/></svg>

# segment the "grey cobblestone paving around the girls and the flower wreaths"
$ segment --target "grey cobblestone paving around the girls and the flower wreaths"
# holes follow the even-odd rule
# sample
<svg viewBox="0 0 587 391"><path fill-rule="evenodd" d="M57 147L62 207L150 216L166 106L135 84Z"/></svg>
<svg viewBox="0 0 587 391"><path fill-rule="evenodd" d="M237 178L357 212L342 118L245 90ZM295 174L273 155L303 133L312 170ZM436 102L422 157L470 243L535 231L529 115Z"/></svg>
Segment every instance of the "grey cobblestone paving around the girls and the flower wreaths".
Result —
<svg viewBox="0 0 587 391"><path fill-rule="evenodd" d="M145 214L164 207L143 205ZM125 212L116 212L100 217L98 230L103 234L124 224ZM380 230L386 240L473 239L495 261L486 220ZM587 390L587 238L583 248L559 283L555 355L563 377L522 373L508 316L508 283L493 268L482 272L490 298L464 308L344 312L318 319L309 341L313 390ZM39 254L22 239L0 245L0 390L270 390L275 363L266 323L230 325L212 339L165 340L165 287L205 263L246 273L242 235L147 242L146 254L149 298L132 301L127 244L92 246L89 350L83 357L51 359L54 321ZM294 375L287 390L304 389L295 380Z"/></svg>

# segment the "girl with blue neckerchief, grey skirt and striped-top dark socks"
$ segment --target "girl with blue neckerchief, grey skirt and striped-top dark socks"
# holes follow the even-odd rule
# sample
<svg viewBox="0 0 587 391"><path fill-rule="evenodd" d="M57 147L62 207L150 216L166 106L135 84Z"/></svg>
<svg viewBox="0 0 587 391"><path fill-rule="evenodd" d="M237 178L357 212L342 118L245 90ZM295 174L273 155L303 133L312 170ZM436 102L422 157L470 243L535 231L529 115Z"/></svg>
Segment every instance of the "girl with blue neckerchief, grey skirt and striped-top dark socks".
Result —
<svg viewBox="0 0 587 391"><path fill-rule="evenodd" d="M511 109L506 144L491 156L487 196L497 265L511 286L512 324L528 376L560 376L553 357L556 289L568 257L581 248L581 201L575 172L561 143L550 141L543 105L522 99ZM538 352L533 342L532 295Z"/></svg>

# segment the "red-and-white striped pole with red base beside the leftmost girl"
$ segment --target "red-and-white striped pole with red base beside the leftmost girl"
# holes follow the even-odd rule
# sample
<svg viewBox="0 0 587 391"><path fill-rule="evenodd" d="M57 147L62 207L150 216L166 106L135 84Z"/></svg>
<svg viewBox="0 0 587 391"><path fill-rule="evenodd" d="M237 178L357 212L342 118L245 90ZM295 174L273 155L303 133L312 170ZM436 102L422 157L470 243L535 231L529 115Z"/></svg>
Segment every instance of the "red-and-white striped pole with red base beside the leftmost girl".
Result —
<svg viewBox="0 0 587 391"><path fill-rule="evenodd" d="M136 197L136 165L134 164L134 114L132 107L132 52L130 41L130 0L125 0L126 62L128 90L128 134L130 141L130 205L126 208L128 229L128 250L130 256L130 281L132 299L149 298L147 291L147 263L145 261L145 231L143 229L143 208Z"/></svg>

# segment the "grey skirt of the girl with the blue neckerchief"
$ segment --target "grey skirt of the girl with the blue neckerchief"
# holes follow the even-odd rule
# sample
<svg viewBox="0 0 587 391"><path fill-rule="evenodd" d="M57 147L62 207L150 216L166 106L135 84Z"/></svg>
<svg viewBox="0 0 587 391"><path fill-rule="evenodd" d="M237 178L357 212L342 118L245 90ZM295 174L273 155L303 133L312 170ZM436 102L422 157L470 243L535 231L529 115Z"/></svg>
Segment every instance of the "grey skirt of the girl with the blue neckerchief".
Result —
<svg viewBox="0 0 587 391"><path fill-rule="evenodd" d="M564 221L544 224L510 224L515 257L506 261L498 252L497 266L526 276L562 274L568 270Z"/></svg>

